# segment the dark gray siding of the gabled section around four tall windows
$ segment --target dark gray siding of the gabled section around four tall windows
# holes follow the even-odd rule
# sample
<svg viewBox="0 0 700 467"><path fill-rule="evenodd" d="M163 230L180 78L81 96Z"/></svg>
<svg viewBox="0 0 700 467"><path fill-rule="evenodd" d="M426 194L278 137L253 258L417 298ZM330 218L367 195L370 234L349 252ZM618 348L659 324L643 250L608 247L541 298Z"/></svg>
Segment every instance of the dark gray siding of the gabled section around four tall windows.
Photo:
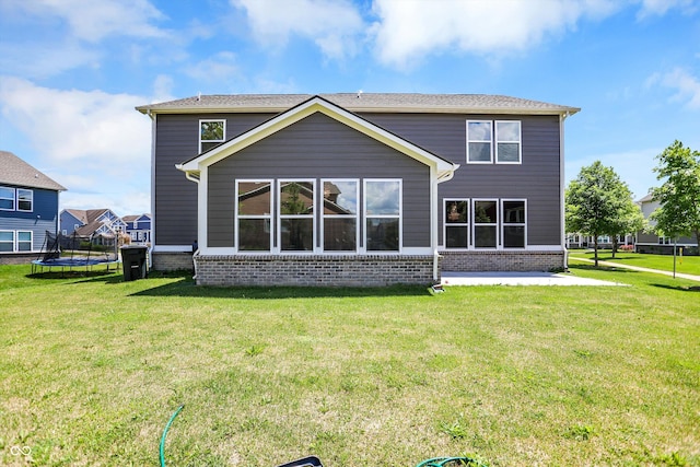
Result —
<svg viewBox="0 0 700 467"><path fill-rule="evenodd" d="M430 246L429 167L325 115L306 117L209 167L209 246L234 244L236 178L314 178L317 197L322 178L401 178L404 247Z"/></svg>

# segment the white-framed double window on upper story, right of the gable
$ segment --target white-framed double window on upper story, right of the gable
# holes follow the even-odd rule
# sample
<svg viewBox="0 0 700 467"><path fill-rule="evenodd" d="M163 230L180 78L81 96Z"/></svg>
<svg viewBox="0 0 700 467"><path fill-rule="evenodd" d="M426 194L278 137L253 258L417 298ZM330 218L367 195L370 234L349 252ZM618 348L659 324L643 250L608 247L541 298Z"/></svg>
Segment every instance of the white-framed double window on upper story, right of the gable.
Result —
<svg viewBox="0 0 700 467"><path fill-rule="evenodd" d="M495 141L495 144L493 144ZM518 120L468 120L467 163L520 164L522 160Z"/></svg>

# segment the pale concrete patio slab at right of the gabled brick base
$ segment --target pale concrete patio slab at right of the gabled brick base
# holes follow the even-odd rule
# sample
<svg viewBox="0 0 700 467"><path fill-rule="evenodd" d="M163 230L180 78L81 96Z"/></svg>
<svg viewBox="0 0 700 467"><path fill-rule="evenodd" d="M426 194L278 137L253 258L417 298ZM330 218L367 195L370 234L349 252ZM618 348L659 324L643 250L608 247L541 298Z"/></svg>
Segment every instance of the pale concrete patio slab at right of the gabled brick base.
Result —
<svg viewBox="0 0 700 467"><path fill-rule="evenodd" d="M442 273L442 285L627 285L580 278L567 272L450 272Z"/></svg>

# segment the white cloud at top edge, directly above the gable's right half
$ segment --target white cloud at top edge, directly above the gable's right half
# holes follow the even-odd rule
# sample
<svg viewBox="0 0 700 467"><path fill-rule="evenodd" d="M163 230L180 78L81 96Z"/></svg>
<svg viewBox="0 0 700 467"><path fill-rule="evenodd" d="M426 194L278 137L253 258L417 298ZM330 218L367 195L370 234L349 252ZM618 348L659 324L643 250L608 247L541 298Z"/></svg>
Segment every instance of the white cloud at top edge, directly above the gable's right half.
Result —
<svg viewBox="0 0 700 467"><path fill-rule="evenodd" d="M290 35L316 43L329 58L355 51L354 37L364 27L360 13L347 0L231 0L245 9L253 35L270 46L284 46Z"/></svg>

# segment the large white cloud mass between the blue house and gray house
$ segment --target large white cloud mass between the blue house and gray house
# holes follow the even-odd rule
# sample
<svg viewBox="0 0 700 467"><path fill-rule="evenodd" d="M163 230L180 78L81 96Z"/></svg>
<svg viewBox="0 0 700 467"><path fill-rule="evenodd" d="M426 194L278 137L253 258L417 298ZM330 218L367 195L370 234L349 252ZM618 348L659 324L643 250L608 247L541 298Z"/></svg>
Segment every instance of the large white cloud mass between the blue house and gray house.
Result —
<svg viewBox="0 0 700 467"><path fill-rule="evenodd" d="M4 121L33 148L36 155L28 159L40 161L39 166L69 189L61 195L63 207L128 205L136 212L150 210L143 199L150 192L151 125L133 108L147 102L136 95L62 91L0 77Z"/></svg>

